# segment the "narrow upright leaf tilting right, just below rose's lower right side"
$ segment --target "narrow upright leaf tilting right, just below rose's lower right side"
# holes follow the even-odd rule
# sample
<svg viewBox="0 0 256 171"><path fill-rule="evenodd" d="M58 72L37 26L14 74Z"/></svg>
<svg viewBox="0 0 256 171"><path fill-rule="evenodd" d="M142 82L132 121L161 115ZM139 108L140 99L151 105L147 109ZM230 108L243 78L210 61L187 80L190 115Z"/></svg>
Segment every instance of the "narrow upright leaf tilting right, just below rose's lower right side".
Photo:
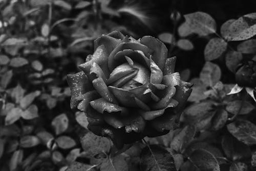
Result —
<svg viewBox="0 0 256 171"><path fill-rule="evenodd" d="M170 143L171 148L176 152L183 153L189 143L193 140L196 134L196 127L193 125L185 126Z"/></svg>

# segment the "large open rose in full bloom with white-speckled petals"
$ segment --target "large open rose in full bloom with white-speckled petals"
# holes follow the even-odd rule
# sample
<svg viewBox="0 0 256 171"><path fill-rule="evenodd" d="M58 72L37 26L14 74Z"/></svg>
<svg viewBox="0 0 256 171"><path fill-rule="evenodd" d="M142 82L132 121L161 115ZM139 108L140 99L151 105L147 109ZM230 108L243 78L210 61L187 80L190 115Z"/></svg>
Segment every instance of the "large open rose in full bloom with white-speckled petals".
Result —
<svg viewBox="0 0 256 171"><path fill-rule="evenodd" d="M94 41L82 70L68 75L71 108L84 111L88 129L110 137L117 148L177 127L191 83L174 72L176 57L158 39L139 40L120 32Z"/></svg>

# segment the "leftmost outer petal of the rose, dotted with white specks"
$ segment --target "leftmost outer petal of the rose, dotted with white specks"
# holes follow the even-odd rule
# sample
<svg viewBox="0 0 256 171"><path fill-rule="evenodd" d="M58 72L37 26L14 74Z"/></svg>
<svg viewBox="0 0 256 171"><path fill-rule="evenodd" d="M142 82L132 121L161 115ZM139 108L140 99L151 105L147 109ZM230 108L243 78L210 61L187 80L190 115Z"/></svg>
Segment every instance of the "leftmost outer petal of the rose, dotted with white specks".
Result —
<svg viewBox="0 0 256 171"><path fill-rule="evenodd" d="M76 100L76 97L87 91L93 90L93 87L86 74L82 71L77 72L74 75L68 75L67 81L71 89L70 107L71 109L76 109L79 103L79 100Z"/></svg>

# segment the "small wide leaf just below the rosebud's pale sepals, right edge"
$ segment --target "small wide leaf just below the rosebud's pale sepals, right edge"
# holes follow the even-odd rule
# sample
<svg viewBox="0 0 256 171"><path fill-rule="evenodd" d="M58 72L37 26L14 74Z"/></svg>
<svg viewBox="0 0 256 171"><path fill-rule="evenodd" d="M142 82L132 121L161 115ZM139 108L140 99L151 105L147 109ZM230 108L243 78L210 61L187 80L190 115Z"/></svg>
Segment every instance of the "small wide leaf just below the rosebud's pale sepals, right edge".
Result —
<svg viewBox="0 0 256 171"><path fill-rule="evenodd" d="M226 110L232 114L248 114L253 109L255 109L255 106L252 105L251 103L249 103L247 101L242 102L239 100L228 102L227 106L226 106Z"/></svg>

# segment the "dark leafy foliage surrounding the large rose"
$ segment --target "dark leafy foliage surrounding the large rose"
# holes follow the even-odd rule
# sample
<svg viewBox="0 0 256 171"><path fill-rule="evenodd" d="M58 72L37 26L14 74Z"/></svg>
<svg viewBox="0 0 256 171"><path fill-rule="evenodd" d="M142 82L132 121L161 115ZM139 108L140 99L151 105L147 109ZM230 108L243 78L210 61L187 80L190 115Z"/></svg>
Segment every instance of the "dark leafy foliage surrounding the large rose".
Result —
<svg viewBox="0 0 256 171"><path fill-rule="evenodd" d="M255 9L254 0L0 0L0 170L255 170L253 88L227 95L239 63L255 67ZM230 19L238 32L223 26ZM123 151L70 110L66 82L114 30L158 37L194 83L179 129Z"/></svg>

